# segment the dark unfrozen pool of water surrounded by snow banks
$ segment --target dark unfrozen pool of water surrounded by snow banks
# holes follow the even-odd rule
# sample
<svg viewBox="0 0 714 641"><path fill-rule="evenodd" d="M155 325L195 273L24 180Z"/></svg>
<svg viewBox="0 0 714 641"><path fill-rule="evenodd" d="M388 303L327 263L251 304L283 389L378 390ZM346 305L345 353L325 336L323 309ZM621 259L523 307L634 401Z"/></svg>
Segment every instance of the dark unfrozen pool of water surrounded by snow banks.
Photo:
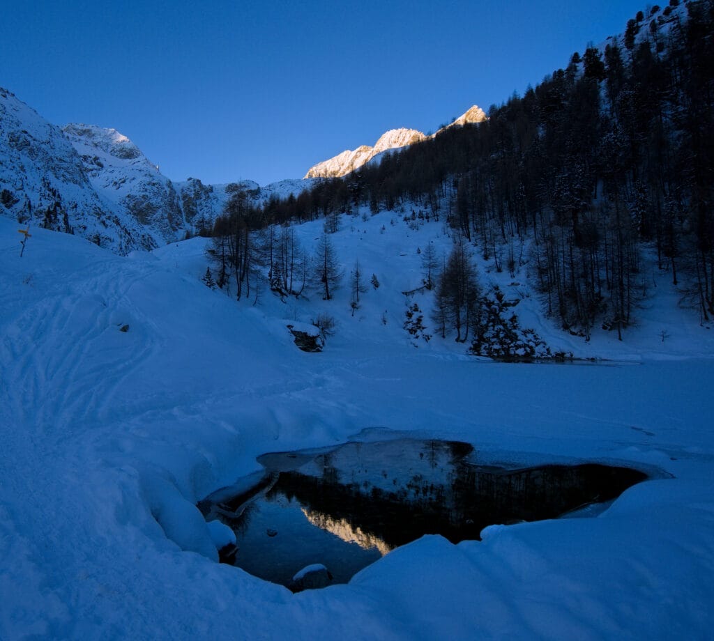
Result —
<svg viewBox="0 0 714 641"><path fill-rule="evenodd" d="M555 518L616 498L647 476L606 465L489 468L468 443L391 440L266 454L262 478L199 505L236 533L234 565L288 585L322 563L347 582L389 550L425 534L478 539L493 523ZM257 482L255 482L257 481Z"/></svg>

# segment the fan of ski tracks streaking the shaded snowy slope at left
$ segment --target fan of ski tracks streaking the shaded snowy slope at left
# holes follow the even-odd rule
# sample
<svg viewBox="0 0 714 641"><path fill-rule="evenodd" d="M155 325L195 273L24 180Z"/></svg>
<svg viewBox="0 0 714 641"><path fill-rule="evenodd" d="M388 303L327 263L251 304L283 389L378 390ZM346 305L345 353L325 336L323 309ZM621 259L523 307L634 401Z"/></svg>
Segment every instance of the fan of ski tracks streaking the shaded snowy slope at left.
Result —
<svg viewBox="0 0 714 641"><path fill-rule="evenodd" d="M126 276L120 280L116 268L107 272L107 267L91 266L101 276L79 291L64 291L36 303L18 323L21 333L5 341L3 360L14 364L10 378L23 390L15 399L16 415L32 416L45 434L66 438L74 424L106 418L101 410L114 390L158 348L156 337L148 337L143 345L133 345L129 358L119 351L99 361L91 358L104 343L105 333L119 329L110 320L111 310L126 304L126 293L139 278L146 278L136 275L127 284ZM131 312L136 310L129 308L129 316Z"/></svg>

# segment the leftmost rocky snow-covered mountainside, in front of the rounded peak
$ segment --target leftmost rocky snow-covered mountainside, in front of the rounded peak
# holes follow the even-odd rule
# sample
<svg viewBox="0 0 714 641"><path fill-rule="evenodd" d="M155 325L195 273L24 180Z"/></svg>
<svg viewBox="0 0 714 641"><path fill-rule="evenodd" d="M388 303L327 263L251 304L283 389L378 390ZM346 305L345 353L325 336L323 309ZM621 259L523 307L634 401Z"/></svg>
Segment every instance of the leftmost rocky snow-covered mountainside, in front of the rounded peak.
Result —
<svg viewBox="0 0 714 641"><path fill-rule="evenodd" d="M156 242L91 185L62 131L0 89L0 214L126 253Z"/></svg>

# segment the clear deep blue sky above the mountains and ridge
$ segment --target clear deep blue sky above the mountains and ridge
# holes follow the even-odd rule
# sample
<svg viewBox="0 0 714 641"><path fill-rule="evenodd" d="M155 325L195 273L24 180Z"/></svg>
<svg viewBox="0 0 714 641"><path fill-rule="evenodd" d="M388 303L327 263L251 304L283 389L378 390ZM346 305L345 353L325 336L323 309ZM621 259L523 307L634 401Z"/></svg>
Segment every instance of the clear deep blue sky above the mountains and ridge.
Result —
<svg viewBox="0 0 714 641"><path fill-rule="evenodd" d="M663 4L660 2L660 4ZM0 86L52 123L114 127L174 180L314 163L523 93L643 0L14 1Z"/></svg>

